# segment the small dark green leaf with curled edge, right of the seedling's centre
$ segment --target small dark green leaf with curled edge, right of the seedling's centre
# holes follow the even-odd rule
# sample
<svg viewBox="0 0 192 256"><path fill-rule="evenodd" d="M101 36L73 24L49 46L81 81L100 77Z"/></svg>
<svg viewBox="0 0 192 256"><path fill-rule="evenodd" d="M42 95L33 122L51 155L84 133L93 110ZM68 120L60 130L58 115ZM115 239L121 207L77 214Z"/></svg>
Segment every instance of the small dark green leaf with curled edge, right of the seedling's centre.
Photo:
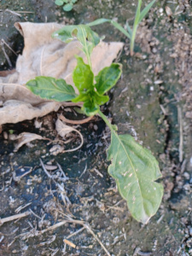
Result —
<svg viewBox="0 0 192 256"><path fill-rule="evenodd" d="M96 76L96 90L104 94L110 90L119 80L122 70L119 63L112 63L110 67L104 67Z"/></svg>

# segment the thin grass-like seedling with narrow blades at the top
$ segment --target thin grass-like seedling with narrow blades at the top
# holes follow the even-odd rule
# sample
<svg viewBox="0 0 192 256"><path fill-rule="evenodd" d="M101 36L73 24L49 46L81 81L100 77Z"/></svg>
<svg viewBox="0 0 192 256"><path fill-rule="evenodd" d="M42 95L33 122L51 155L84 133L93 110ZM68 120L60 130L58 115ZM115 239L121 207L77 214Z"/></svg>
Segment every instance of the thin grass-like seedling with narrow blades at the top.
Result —
<svg viewBox="0 0 192 256"><path fill-rule="evenodd" d="M105 22L110 22L114 27L119 29L120 32L124 33L125 36L130 39L130 54L133 55L135 39L136 39L136 34L137 34L137 27L138 27L139 23L143 20L144 16L148 14L149 9L151 9L151 7L154 5L155 1L156 0L153 0L151 3L148 3L148 5L143 9L143 11L141 11L142 0L138 0L137 11L136 11L135 20L134 20L132 29L129 26L128 22L126 22L126 25L124 28L123 26L120 26L119 23L117 23L116 21L104 19L104 18L90 22L87 25L88 26L96 26L96 25L100 25Z"/></svg>

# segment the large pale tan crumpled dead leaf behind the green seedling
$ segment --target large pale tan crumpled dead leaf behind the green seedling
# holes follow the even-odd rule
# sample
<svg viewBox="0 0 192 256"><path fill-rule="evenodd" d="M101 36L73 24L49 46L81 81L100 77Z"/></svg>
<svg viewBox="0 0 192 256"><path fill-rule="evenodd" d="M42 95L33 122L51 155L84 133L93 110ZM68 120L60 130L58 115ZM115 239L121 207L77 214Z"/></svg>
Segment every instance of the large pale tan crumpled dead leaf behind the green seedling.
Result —
<svg viewBox="0 0 192 256"><path fill-rule="evenodd" d="M63 44L51 38L51 34L62 26L56 23L15 24L24 37L25 48L18 57L15 73L0 76L0 125L41 117L57 111L61 105L77 105L43 100L25 86L28 80L39 75L66 79L67 84L73 85L72 73L76 66L74 55L84 57L84 54L77 41ZM104 42L97 45L91 56L93 72L97 74L103 67L109 66L123 45Z"/></svg>

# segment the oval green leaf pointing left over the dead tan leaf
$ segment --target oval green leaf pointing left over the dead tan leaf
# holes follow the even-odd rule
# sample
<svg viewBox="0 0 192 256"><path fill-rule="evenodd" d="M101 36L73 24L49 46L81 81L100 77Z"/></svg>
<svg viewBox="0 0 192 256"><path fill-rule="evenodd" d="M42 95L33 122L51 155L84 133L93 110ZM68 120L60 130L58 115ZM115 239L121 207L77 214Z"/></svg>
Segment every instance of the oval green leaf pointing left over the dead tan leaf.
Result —
<svg viewBox="0 0 192 256"><path fill-rule="evenodd" d="M56 102L72 101L77 96L73 86L67 84L64 79L40 76L28 81L26 87L35 95Z"/></svg>

